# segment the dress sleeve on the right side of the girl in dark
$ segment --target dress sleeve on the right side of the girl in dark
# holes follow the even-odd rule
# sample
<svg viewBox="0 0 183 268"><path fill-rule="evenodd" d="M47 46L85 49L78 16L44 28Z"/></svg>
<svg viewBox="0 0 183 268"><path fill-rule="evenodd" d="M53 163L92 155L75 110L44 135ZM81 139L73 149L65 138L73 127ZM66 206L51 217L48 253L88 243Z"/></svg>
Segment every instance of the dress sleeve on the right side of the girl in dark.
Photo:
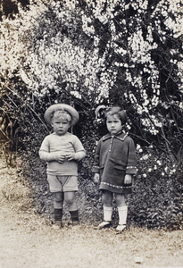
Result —
<svg viewBox="0 0 183 268"><path fill-rule="evenodd" d="M136 147L133 139L129 141L129 157L126 168L127 174L137 174L137 155L136 155Z"/></svg>

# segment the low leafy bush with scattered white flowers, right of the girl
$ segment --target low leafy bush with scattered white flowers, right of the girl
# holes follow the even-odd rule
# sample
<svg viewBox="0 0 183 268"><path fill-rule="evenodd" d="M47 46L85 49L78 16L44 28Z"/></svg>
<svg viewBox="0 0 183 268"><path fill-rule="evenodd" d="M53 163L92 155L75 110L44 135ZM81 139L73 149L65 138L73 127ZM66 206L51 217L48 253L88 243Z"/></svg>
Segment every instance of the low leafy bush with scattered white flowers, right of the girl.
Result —
<svg viewBox="0 0 183 268"><path fill-rule="evenodd" d="M176 229L182 224L182 165L153 146L137 145L138 172L131 206L131 220L149 228ZM148 204L148 205L147 205Z"/></svg>

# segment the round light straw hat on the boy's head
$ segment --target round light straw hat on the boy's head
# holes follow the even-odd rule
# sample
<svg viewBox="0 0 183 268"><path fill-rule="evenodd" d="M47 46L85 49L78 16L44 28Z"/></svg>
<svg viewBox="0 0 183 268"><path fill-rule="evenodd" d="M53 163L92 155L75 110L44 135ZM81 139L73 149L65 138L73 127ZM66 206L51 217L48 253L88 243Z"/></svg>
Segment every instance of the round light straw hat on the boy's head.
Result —
<svg viewBox="0 0 183 268"><path fill-rule="evenodd" d="M67 113L70 113L71 127L73 127L77 123L77 121L79 121L79 113L71 105L56 104L56 105L51 105L46 110L44 118L47 123L51 124L52 114L58 110L63 110L63 111L66 111Z"/></svg>

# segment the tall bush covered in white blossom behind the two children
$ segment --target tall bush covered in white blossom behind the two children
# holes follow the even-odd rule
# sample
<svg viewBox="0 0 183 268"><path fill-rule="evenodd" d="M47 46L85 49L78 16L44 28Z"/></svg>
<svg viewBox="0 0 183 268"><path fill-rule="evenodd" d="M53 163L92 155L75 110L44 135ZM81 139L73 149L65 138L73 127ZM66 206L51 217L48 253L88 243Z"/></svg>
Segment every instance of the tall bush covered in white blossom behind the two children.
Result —
<svg viewBox="0 0 183 268"><path fill-rule="evenodd" d="M156 202L170 195L174 202L172 192L175 187L179 192L182 183L181 1L21 2L9 1L9 14L2 5L1 136L11 149L19 145L37 154L50 130L43 120L46 107L58 102L75 106L80 120L73 131L87 149L80 167L84 181L92 177L96 140L105 130L95 120L96 106L121 105L129 114L129 135L142 150L135 184L139 201L131 199L133 219L141 221L135 208L142 213L143 200L149 209L143 221L150 224L157 206L145 198L148 193L158 187L154 197L162 199Z"/></svg>

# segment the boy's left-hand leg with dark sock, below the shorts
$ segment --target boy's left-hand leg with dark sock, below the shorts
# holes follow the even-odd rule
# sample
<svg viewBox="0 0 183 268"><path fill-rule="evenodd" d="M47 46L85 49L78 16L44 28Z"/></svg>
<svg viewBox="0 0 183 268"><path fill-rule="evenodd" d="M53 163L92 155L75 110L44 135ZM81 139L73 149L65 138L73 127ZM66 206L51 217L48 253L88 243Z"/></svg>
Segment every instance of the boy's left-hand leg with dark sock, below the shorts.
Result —
<svg viewBox="0 0 183 268"><path fill-rule="evenodd" d="M62 192L54 193L54 221L55 221L55 228L61 227L62 222Z"/></svg>

